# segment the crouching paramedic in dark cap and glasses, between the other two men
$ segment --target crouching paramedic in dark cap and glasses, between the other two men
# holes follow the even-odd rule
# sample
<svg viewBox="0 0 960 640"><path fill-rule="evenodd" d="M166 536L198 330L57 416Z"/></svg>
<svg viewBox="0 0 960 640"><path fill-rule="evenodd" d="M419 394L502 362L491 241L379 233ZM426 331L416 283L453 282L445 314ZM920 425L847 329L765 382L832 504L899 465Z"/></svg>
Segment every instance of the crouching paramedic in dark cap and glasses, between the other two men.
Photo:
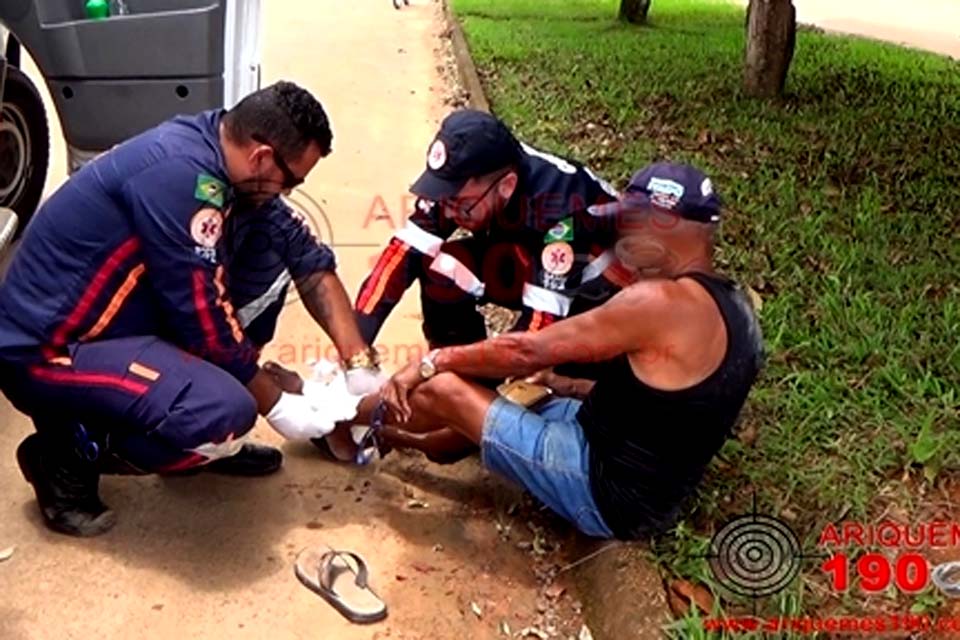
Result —
<svg viewBox="0 0 960 640"><path fill-rule="evenodd" d="M433 348L486 338L477 311L486 302L521 311L515 330L547 326L568 315L571 292L609 264L609 242L585 212L613 201L613 188L579 163L519 142L488 113L446 117L411 191L416 211L357 298L370 344L417 280ZM472 237L450 240L458 227Z"/></svg>

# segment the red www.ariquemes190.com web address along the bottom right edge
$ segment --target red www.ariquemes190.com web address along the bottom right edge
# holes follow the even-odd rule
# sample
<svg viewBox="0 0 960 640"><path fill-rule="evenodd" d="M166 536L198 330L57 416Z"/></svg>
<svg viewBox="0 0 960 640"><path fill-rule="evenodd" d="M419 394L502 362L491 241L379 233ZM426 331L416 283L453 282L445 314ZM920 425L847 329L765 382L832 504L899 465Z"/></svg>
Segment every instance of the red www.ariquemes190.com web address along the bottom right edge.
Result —
<svg viewBox="0 0 960 640"><path fill-rule="evenodd" d="M884 614L873 616L825 616L769 618L734 617L706 618L703 621L706 631L725 631L727 633L793 632L793 633L847 633L852 636L876 637L878 633L937 631L955 633L960 636L960 617L933 618L914 614Z"/></svg>

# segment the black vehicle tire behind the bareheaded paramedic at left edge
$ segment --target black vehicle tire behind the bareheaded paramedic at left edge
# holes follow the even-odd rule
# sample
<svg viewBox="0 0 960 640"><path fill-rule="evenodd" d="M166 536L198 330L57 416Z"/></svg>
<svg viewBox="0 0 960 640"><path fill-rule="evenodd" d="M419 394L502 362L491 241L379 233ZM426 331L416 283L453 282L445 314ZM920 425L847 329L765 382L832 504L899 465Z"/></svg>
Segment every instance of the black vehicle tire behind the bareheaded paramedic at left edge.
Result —
<svg viewBox="0 0 960 640"><path fill-rule="evenodd" d="M43 195L50 164L50 129L43 100L20 69L7 66L2 99L0 207L17 212L20 225L14 237L18 237Z"/></svg>

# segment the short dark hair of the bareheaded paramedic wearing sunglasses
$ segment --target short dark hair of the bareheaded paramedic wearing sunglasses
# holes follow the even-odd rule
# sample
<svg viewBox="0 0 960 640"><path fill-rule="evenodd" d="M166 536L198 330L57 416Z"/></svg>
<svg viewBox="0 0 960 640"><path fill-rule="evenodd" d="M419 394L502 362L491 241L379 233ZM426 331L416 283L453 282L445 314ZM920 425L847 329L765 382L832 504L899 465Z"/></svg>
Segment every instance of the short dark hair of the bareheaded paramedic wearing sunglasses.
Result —
<svg viewBox="0 0 960 640"><path fill-rule="evenodd" d="M259 138L285 158L299 158L311 142L321 155L331 151L333 133L323 106L309 91L280 81L238 102L223 118L237 142Z"/></svg>

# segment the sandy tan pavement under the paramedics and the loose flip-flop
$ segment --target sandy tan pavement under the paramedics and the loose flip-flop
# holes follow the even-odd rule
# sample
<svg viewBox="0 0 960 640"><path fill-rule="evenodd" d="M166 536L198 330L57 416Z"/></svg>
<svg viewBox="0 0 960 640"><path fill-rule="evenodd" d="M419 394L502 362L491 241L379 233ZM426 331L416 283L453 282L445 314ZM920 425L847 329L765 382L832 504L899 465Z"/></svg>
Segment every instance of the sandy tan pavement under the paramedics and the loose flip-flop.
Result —
<svg viewBox="0 0 960 640"><path fill-rule="evenodd" d="M447 110L435 51L440 6L289 0L264 10L264 84L309 88L333 124L333 155L293 200L335 245L354 293L402 223L407 187ZM48 193L63 180L56 131L53 151ZM378 340L391 368L416 356L417 308L412 290ZM291 304L265 357L305 372L328 345ZM284 444L284 469L265 479L106 478L103 498L118 526L74 540L40 524L14 460L31 427L2 399L0 425L0 549L16 545L0 562L4 640L477 639L502 637L503 622L516 631L544 617L535 569L551 556L535 558L529 513L505 515L518 494L475 462L437 467L393 454L361 472ZM254 435L280 444L266 424ZM368 559L387 621L352 626L297 582L296 552L322 544ZM575 629L578 607L567 594L549 604Z"/></svg>

